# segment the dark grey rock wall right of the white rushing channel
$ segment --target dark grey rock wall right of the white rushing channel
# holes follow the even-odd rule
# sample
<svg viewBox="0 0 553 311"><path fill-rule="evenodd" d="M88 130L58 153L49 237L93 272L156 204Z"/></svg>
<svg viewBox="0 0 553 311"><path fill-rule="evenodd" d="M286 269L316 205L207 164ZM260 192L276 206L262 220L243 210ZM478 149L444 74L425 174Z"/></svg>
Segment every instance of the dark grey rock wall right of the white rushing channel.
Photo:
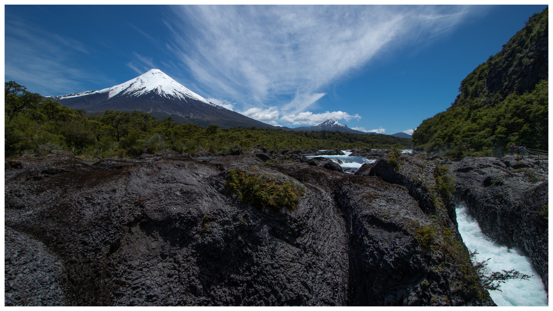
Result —
<svg viewBox="0 0 553 311"><path fill-rule="evenodd" d="M456 199L467 204L484 234L530 257L547 289L547 161L531 168L513 165L523 161L512 158L466 157L452 164Z"/></svg>

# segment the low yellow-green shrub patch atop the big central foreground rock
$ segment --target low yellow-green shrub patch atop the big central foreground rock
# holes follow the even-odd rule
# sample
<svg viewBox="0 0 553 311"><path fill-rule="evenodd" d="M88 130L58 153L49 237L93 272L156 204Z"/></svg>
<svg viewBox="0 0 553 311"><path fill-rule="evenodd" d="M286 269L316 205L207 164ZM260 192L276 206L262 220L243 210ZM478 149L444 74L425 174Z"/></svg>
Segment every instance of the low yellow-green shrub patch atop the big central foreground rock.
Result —
<svg viewBox="0 0 553 311"><path fill-rule="evenodd" d="M281 182L267 174L228 170L225 187L230 194L236 194L242 203L250 202L257 208L269 207L275 211L285 207L295 210L305 188L294 181Z"/></svg>

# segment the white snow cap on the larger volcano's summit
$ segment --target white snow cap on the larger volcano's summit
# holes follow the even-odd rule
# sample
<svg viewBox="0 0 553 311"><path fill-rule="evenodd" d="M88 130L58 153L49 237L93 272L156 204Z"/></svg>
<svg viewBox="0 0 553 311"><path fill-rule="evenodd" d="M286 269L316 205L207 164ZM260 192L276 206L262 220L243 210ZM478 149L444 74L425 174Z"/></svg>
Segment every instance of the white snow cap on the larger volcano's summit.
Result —
<svg viewBox="0 0 553 311"><path fill-rule="evenodd" d="M221 107L217 104L211 103L204 97L190 91L179 82L173 80L173 78L165 75L165 73L159 69L150 69L143 75L140 75L132 80L121 83L120 85L100 89L99 91L86 91L77 94L67 94L62 96L56 96L56 99L65 99L78 96L84 96L93 93L106 93L109 92L108 98L112 98L116 95L127 96L140 96L145 93L155 92L165 98L193 98L197 101L210 104L215 107ZM222 108L222 107L221 107Z"/></svg>

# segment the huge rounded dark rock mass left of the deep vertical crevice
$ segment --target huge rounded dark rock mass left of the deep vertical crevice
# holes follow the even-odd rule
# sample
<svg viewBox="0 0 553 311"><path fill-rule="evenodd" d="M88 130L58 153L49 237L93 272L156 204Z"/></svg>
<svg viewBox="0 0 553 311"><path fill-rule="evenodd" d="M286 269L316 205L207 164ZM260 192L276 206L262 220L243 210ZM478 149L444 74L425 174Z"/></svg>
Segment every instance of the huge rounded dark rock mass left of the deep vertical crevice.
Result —
<svg viewBox="0 0 553 311"><path fill-rule="evenodd" d="M233 168L260 162L238 157ZM6 223L60 254L71 305L345 305L347 238L330 198L307 189L281 213L236 202L223 194L228 158L73 171L39 189L22 173Z"/></svg>

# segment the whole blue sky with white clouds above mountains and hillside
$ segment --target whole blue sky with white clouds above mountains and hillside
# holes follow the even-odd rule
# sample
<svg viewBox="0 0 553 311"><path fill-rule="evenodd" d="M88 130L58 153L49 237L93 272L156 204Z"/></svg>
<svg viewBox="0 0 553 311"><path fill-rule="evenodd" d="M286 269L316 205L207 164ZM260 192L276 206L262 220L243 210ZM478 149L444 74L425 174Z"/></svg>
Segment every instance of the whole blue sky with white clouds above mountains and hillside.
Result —
<svg viewBox="0 0 553 311"><path fill-rule="evenodd" d="M265 123L410 134L545 7L5 6L4 80L50 96L157 68Z"/></svg>

